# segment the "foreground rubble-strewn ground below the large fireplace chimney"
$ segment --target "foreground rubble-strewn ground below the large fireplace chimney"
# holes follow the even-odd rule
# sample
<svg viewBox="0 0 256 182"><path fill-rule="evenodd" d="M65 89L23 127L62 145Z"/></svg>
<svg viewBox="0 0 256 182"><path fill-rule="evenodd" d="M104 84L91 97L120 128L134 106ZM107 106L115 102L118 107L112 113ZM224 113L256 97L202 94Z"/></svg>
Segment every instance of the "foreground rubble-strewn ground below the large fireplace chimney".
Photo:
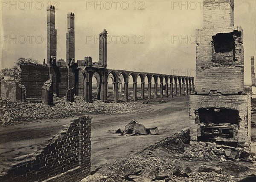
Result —
<svg viewBox="0 0 256 182"><path fill-rule="evenodd" d="M246 177L256 179L255 154L250 154L250 160L221 160L221 154L229 154L227 150L217 149L216 144L210 142L189 146L183 143L188 137L189 129L183 129L139 153L100 166L81 182L236 182Z"/></svg>

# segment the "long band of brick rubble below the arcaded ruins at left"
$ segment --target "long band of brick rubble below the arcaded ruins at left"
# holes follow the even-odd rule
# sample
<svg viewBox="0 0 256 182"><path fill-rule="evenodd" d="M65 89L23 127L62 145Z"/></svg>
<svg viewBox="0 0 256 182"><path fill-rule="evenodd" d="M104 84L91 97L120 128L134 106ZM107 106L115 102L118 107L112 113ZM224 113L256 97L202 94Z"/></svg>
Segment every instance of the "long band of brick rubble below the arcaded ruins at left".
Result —
<svg viewBox="0 0 256 182"><path fill-rule="evenodd" d="M84 113L140 113L148 112L148 107L139 102L104 103L94 101L87 103L83 98L75 96L75 102L67 102L64 98L53 98L54 105L3 100L0 98L0 126L22 124L33 119L65 118Z"/></svg>

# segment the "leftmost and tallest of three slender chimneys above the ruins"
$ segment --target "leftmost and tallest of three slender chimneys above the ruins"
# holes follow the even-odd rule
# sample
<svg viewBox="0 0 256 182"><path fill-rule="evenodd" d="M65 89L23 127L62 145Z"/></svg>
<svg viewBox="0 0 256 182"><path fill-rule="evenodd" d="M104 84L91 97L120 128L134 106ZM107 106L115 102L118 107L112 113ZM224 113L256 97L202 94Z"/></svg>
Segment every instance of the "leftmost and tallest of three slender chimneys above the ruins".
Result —
<svg viewBox="0 0 256 182"><path fill-rule="evenodd" d="M47 64L57 56L57 30L55 29L55 7L47 6Z"/></svg>

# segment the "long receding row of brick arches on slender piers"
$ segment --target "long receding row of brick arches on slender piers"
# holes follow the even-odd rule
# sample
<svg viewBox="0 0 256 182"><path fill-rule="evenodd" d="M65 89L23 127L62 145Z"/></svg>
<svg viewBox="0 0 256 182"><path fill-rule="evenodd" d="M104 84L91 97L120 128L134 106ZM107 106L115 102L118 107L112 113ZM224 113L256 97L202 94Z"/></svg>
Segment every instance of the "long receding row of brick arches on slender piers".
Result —
<svg viewBox="0 0 256 182"><path fill-rule="evenodd" d="M194 78L186 76L162 75L124 70L105 72L105 100L130 101L145 98L174 97L194 92ZM102 99L102 80L100 72L92 77L93 100Z"/></svg>

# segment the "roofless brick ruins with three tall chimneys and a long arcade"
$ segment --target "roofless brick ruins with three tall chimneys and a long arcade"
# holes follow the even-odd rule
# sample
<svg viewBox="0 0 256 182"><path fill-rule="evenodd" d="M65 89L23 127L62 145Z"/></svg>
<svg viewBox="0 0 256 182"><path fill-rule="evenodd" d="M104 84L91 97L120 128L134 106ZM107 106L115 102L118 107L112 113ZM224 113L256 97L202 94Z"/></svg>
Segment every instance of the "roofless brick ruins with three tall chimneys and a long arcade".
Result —
<svg viewBox="0 0 256 182"><path fill-rule="evenodd" d="M147 72L131 72L127 70L114 70L107 68L107 31L104 29L99 34L99 61L93 62L90 56L84 60L75 61L75 14L67 14L66 35L66 62L63 59L57 61L57 30L55 29L55 7L47 7L47 61L44 66L21 65L21 84L26 88L26 99L52 105L52 94L57 97L66 96L67 101L73 101L73 96L79 95L87 102L93 101L93 78L97 81L97 100L108 101L108 80L113 82L113 99L115 102L137 99L160 97L174 97L189 95L194 92L194 78L188 76L164 75ZM132 80L129 80L129 77ZM51 81L49 81L49 78ZM137 80L140 79L140 90L137 89ZM145 81L148 81L147 90ZM154 80L154 83L151 83ZM160 80L160 83L158 81ZM50 83L51 82L51 83ZM51 84L51 85L47 85ZM95 84L95 83L94 83ZM129 98L129 84L133 87L132 98ZM152 86L152 84L154 84ZM4 86L4 84L2 84ZM13 84L15 85L15 84ZM122 88L124 86L124 88ZM14 88L15 86L13 86ZM154 87L154 88L152 88ZM1 90L5 90L2 87ZM8 88L9 89L9 88ZM49 89L49 90L47 90ZM13 89L14 90L14 89ZM24 101L24 90L18 89L17 96L12 100ZM154 93L151 94L151 90ZM140 91L140 96L137 92ZM160 93L159 93L160 91ZM2 92L6 93L6 92ZM147 95L145 95L147 93ZM21 95L23 94L23 95ZM2 98L8 98L1 95ZM122 98L121 98L122 97ZM9 97L10 98L10 97Z"/></svg>

